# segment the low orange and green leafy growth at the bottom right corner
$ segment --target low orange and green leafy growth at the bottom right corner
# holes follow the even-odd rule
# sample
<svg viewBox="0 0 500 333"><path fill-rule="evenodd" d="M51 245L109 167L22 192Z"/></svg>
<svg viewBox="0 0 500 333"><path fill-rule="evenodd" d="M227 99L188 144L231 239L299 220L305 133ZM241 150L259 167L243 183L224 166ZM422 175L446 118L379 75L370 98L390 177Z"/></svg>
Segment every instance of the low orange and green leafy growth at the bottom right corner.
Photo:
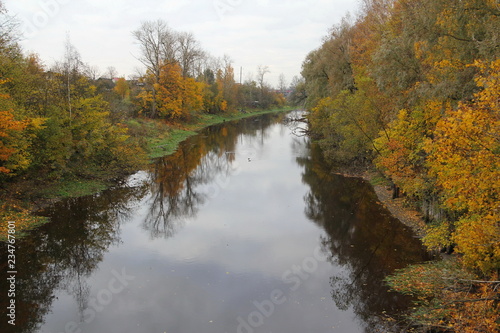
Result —
<svg viewBox="0 0 500 333"><path fill-rule="evenodd" d="M393 290L418 299L420 308L410 319L429 329L475 333L500 328L498 274L476 280L455 260L446 260L398 270L387 281Z"/></svg>

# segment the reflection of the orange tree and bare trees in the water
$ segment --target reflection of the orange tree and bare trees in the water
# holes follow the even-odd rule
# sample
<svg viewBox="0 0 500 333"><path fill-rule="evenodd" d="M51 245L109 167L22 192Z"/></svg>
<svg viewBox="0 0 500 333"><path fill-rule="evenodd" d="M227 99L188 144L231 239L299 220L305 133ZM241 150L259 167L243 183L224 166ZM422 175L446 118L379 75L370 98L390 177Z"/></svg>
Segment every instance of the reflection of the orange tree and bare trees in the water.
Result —
<svg viewBox="0 0 500 333"><path fill-rule="evenodd" d="M151 198L144 220L151 237L171 237L186 220L195 218L238 172L234 153L238 139L253 137L255 146L261 147L266 130L282 117L267 115L212 126L183 142L174 154L157 159L150 169ZM250 160L253 154L248 152Z"/></svg>

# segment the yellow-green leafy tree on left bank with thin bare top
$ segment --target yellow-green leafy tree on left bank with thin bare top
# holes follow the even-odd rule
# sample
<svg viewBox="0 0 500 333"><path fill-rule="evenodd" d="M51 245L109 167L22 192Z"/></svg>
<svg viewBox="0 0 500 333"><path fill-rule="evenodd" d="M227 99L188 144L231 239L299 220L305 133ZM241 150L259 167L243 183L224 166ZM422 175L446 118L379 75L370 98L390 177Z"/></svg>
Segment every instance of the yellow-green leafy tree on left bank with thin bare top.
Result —
<svg viewBox="0 0 500 333"><path fill-rule="evenodd" d="M24 138L30 143L30 172L43 170L53 179L88 177L125 172L141 163L143 153L128 139L126 127L113 124L109 103L86 76L87 65L74 46L66 44L63 60L50 71L33 57L24 68L25 77L38 80L32 99L17 99L29 120ZM25 89L31 89L30 81L25 80ZM134 152L128 161L122 149Z"/></svg>

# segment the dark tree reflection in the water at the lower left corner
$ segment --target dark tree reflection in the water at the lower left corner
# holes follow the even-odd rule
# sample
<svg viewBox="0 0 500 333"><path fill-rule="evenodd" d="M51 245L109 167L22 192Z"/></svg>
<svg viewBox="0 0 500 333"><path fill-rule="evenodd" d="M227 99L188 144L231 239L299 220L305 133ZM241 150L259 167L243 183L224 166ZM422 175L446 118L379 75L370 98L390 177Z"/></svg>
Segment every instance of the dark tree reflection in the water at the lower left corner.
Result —
<svg viewBox="0 0 500 333"><path fill-rule="evenodd" d="M42 212L52 222L16 242L16 325L2 320L0 331L35 332L50 312L56 290L72 295L83 311L89 297L88 277L109 247L120 242L120 225L145 194L145 186L121 187L64 200ZM0 260L6 272L5 251ZM0 279L0 289L8 290L5 279ZM8 300L1 300L0 314L6 318Z"/></svg>

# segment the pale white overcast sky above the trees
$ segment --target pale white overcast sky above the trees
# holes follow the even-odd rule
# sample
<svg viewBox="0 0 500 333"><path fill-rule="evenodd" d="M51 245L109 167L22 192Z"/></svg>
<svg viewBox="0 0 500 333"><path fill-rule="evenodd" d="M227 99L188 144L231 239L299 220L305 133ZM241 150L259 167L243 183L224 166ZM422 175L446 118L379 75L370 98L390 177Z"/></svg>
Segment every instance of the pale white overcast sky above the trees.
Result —
<svg viewBox="0 0 500 333"><path fill-rule="evenodd" d="M211 55L233 60L236 80L268 66L265 81L290 83L307 53L359 0L3 0L21 22L26 52L46 66L62 59L69 34L82 60L104 73L109 66L128 77L141 68L131 32L141 22L162 19L175 31L191 32Z"/></svg>

